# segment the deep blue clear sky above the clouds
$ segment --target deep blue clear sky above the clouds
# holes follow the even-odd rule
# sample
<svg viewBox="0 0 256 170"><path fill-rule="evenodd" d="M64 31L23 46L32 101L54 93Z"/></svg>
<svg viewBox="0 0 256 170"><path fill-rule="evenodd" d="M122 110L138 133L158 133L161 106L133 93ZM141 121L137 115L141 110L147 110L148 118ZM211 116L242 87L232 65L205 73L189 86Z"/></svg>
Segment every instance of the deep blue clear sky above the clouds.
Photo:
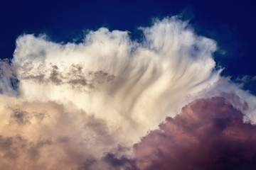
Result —
<svg viewBox="0 0 256 170"><path fill-rule="evenodd" d="M223 74L256 76L256 10L253 1L1 1L0 57L11 58L15 40L23 33L46 33L55 41L82 38L82 30L105 26L139 35L154 17L183 13L200 35L218 42L225 55L215 61ZM256 92L255 82L245 86Z"/></svg>

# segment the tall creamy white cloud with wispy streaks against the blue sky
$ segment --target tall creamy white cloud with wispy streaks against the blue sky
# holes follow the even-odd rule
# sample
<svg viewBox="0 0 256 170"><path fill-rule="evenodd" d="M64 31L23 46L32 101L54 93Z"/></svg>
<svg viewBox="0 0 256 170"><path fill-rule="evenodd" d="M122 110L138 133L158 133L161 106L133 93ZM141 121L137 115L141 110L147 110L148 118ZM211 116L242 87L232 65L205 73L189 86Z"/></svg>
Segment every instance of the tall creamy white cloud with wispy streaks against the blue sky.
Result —
<svg viewBox="0 0 256 170"><path fill-rule="evenodd" d="M13 60L21 96L73 103L122 125L136 142L218 81L220 73L214 70L215 42L193 33L187 22L165 18L140 29L142 42L107 28L90 31L80 44L22 35Z"/></svg>

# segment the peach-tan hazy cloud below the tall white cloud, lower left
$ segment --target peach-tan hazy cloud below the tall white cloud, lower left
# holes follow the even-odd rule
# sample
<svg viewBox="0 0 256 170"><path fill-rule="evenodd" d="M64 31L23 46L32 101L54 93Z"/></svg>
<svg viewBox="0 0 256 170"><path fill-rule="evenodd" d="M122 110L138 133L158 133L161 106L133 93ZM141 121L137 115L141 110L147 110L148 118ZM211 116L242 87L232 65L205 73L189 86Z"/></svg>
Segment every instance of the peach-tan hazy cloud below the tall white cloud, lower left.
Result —
<svg viewBox="0 0 256 170"><path fill-rule="evenodd" d="M110 159L104 159L105 153L126 145L119 138L119 127L72 104L27 102L3 95L0 102L3 169L79 169L91 159L97 161L92 165L93 170L112 169L114 165L109 163ZM129 152L130 149L118 150L126 156ZM117 155L116 159L119 157L122 156Z"/></svg>

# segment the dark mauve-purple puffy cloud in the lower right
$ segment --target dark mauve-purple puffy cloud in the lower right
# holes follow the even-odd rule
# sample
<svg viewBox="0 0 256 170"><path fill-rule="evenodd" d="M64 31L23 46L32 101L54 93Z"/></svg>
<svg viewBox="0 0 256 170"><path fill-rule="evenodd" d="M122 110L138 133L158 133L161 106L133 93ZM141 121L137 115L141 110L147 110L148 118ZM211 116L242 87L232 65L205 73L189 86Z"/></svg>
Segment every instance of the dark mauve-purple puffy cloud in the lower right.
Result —
<svg viewBox="0 0 256 170"><path fill-rule="evenodd" d="M134 145L140 169L255 169L256 126L224 97L198 99Z"/></svg>

